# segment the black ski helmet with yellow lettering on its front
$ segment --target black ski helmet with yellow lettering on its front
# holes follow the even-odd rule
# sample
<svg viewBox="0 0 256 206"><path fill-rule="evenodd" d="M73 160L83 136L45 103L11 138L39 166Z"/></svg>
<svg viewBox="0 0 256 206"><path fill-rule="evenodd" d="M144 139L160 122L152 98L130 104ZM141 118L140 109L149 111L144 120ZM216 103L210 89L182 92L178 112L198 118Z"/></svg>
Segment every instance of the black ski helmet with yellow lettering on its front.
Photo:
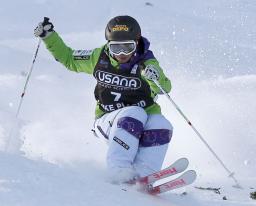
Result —
<svg viewBox="0 0 256 206"><path fill-rule="evenodd" d="M138 40L140 37L140 25L130 16L114 17L105 29L105 38L108 41Z"/></svg>

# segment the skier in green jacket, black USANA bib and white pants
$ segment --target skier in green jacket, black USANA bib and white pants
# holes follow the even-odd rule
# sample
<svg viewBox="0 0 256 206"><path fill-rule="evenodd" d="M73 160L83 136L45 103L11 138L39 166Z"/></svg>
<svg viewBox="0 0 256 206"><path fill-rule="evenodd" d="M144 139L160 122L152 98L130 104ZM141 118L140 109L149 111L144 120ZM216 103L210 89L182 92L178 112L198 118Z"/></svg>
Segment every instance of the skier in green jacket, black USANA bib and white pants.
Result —
<svg viewBox="0 0 256 206"><path fill-rule="evenodd" d="M154 101L171 82L149 50L138 22L130 16L112 18L105 29L106 44L93 50L66 46L45 18L34 30L54 58L74 72L97 80L95 134L109 143L107 168L112 182L146 176L162 167L172 125Z"/></svg>

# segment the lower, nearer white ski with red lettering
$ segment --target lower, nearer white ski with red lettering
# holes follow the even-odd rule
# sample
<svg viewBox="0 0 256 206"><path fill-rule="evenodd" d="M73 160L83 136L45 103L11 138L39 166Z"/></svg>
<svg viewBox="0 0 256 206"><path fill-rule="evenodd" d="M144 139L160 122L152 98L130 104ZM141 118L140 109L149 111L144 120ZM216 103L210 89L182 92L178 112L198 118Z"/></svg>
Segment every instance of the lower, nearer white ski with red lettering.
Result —
<svg viewBox="0 0 256 206"><path fill-rule="evenodd" d="M196 172L194 170L188 170L178 178L165 182L161 185L152 186L151 184L149 184L146 187L146 192L149 193L150 195L161 194L167 191L171 191L180 187L187 186L192 182L194 182L195 179L196 179Z"/></svg>

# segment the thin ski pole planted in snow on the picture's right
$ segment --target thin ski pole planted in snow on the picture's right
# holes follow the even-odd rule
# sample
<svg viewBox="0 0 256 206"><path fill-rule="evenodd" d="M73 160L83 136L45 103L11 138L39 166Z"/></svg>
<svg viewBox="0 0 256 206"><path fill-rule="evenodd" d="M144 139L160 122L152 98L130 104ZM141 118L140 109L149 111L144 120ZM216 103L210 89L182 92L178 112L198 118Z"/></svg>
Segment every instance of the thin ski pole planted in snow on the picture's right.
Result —
<svg viewBox="0 0 256 206"><path fill-rule="evenodd" d="M170 97L167 92L164 91L164 89L161 87L159 82L157 80L153 80L154 83L157 85L157 87L161 90L161 92L169 99L169 101L173 104L173 106L176 108L176 110L181 114L181 116L186 120L186 122L191 126L191 128L194 130L194 132L197 134L197 136L201 139L201 141L206 145L206 147L211 151L211 153L215 156L215 158L219 161L219 163L223 166L223 168L227 171L228 177L232 178L235 182L234 187L242 188L240 184L238 183L237 179L234 177L234 172L231 172L227 166L224 164L224 162L219 158L219 156L214 152L214 150L210 147L210 145L206 142L206 140L203 138L203 136L198 132L198 130L193 126L191 121L185 116L185 114L181 111L179 106L173 101L173 99Z"/></svg>

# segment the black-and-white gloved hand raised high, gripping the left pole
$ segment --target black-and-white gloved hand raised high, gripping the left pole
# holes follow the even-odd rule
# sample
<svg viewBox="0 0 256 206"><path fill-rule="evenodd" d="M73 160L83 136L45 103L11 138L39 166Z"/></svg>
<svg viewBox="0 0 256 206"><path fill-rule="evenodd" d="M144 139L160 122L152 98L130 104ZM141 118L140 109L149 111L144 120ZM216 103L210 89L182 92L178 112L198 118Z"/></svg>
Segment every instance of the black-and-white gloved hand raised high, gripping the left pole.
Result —
<svg viewBox="0 0 256 206"><path fill-rule="evenodd" d="M34 35L42 39L47 38L54 31L53 28L54 26L49 22L49 18L44 17L44 21L40 22L34 29Z"/></svg>

